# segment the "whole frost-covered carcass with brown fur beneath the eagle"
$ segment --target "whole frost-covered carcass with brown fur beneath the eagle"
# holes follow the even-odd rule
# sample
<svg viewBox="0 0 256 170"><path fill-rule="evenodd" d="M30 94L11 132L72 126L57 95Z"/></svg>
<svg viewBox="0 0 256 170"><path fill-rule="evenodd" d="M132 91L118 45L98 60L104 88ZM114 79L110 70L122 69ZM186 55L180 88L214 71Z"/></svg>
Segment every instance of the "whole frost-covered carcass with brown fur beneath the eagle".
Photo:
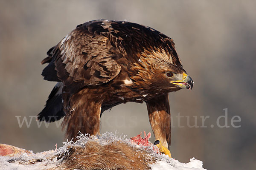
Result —
<svg viewBox="0 0 256 170"><path fill-rule="evenodd" d="M174 169L179 163L157 154L153 146L138 146L112 133L97 137L80 134L76 142L65 142L56 150L0 156L0 170L159 170L157 162Z"/></svg>

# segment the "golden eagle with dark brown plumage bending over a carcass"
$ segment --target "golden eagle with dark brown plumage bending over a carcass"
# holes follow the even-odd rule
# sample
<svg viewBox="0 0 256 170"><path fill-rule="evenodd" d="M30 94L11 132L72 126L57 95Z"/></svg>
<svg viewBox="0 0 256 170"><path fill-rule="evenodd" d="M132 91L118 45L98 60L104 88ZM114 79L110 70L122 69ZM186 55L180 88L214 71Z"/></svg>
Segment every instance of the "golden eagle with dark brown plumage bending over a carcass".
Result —
<svg viewBox="0 0 256 170"><path fill-rule="evenodd" d="M168 147L168 93L192 89L173 40L153 28L126 21L95 20L76 27L52 47L42 75L58 82L38 119L64 117L66 136L99 134L103 111L126 102L146 102L156 139Z"/></svg>

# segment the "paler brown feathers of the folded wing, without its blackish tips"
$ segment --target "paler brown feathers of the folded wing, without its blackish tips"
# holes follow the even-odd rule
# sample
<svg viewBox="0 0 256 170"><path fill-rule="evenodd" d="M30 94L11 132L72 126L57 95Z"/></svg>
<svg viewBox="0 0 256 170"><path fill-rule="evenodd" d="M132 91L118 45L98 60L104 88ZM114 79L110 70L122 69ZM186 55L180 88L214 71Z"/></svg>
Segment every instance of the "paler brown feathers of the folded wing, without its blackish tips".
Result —
<svg viewBox="0 0 256 170"><path fill-rule="evenodd" d="M108 38L86 31L76 29L58 44L61 57L57 60L61 62L55 62L57 75L64 82L68 79L69 84L73 79L74 83L99 85L116 77L121 70L111 58L113 52L110 50L112 46L107 45Z"/></svg>

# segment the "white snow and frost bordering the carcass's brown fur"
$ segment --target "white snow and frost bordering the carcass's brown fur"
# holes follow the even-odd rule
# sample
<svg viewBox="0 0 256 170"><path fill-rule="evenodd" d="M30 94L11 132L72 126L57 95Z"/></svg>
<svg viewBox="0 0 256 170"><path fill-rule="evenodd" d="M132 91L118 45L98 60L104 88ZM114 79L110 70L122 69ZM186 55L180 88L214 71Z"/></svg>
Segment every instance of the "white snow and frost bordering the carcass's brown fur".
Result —
<svg viewBox="0 0 256 170"><path fill-rule="evenodd" d="M64 142L63 147L60 147L56 150L49 150L41 153L23 153L21 155L17 154L11 157L0 156L0 170L43 170L50 168L54 169L56 167L56 164L60 164L62 161L62 159L57 160L56 155L64 152L68 153L68 147L84 146L86 142L92 140L99 142L99 144L101 145L109 144L116 141L121 141L132 146L137 145L134 144L134 142L131 142L131 139L127 139L126 136L117 136L116 134L108 132L103 133L100 136L93 136L91 138L80 134L77 139L77 142ZM203 162L200 160L192 158L188 163L181 163L178 160L169 158L166 155L158 154L156 150L154 150L154 146L151 145L137 145L136 147L146 148L150 152L151 156L156 158L157 161L154 164L149 165L152 170L205 170L203 168ZM41 161L29 164L29 162L33 160Z"/></svg>

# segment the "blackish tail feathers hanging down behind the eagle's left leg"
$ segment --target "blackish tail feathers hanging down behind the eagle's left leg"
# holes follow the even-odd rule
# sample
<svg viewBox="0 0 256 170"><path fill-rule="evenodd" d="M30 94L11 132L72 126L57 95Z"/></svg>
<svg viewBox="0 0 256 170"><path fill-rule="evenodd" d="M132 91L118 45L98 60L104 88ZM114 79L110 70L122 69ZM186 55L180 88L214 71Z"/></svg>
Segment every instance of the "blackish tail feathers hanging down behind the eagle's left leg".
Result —
<svg viewBox="0 0 256 170"><path fill-rule="evenodd" d="M66 115L63 110L62 88L62 82L54 86L44 109L38 114L39 121L55 122Z"/></svg>

